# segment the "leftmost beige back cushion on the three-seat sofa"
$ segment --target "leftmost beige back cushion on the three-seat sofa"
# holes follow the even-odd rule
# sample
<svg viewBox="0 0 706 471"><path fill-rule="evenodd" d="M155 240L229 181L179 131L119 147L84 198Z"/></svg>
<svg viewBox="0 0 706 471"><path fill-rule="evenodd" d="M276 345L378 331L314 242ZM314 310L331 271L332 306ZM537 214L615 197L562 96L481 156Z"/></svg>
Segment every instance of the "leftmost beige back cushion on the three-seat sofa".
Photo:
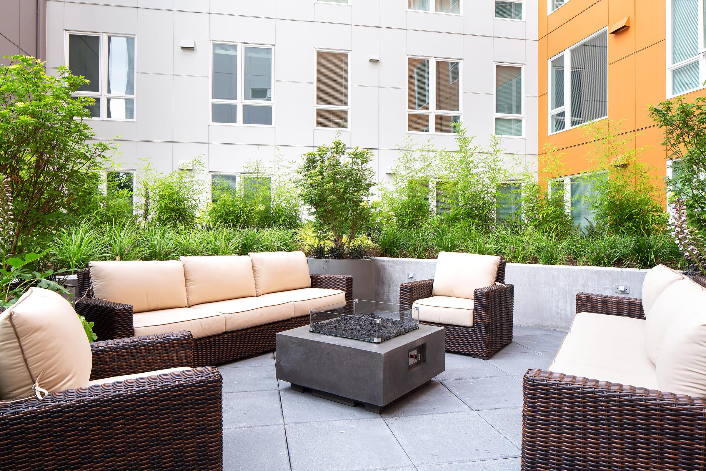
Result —
<svg viewBox="0 0 706 471"><path fill-rule="evenodd" d="M91 262L98 299L132 304L133 312L186 307L184 266L178 260Z"/></svg>

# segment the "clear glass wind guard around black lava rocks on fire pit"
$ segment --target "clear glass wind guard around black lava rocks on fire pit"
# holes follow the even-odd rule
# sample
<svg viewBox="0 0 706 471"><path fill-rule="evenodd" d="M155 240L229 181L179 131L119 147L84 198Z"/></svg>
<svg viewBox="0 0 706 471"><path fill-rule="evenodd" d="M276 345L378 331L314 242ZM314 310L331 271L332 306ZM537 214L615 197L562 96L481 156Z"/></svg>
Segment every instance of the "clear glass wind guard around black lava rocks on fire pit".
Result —
<svg viewBox="0 0 706 471"><path fill-rule="evenodd" d="M419 328L419 308L354 299L337 309L311 309L310 331L380 343Z"/></svg>

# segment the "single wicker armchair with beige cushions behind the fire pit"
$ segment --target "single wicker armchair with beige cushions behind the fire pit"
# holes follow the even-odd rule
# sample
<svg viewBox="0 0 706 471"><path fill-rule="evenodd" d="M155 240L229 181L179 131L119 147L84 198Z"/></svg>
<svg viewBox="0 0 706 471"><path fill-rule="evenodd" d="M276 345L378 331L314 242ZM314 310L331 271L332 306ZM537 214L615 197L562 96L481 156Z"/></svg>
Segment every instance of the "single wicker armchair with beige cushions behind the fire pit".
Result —
<svg viewBox="0 0 706 471"><path fill-rule="evenodd" d="M483 268L485 267L485 268ZM515 287L499 257L441 252L436 279L400 285L400 304L419 321L446 330L447 352L489 358L513 340Z"/></svg>

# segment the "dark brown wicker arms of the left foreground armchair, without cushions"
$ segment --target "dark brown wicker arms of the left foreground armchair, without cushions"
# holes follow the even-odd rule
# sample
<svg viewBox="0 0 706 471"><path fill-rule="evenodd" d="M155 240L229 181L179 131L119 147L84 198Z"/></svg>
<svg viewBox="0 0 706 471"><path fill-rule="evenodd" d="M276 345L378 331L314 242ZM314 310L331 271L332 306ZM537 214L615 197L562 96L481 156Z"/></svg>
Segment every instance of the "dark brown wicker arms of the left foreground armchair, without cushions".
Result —
<svg viewBox="0 0 706 471"><path fill-rule="evenodd" d="M185 332L95 342L92 377L190 366L190 347ZM221 383L209 366L0 403L0 470L220 471Z"/></svg>

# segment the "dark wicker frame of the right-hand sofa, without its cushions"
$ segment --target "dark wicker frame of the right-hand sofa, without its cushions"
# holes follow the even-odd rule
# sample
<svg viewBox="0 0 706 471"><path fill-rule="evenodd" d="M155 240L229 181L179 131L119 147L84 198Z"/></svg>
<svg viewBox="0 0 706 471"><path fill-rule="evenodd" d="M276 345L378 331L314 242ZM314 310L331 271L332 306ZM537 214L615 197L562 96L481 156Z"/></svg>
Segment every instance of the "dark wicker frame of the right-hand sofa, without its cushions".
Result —
<svg viewBox="0 0 706 471"><path fill-rule="evenodd" d="M577 294L576 312L645 318L640 299L602 294ZM523 471L706 469L703 398L542 369L523 390Z"/></svg>

